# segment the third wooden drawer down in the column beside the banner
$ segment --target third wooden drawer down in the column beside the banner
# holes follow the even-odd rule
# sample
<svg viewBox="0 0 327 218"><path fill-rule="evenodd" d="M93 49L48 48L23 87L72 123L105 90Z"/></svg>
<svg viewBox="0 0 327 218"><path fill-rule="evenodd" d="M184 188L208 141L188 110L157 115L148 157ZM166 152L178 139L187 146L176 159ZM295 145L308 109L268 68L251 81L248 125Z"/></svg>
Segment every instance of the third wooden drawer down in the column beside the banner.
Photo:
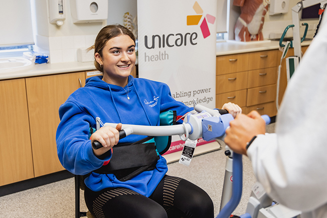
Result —
<svg viewBox="0 0 327 218"><path fill-rule="evenodd" d="M240 107L246 106L246 89L216 95L217 108L222 108L222 106L228 102L237 104Z"/></svg>

